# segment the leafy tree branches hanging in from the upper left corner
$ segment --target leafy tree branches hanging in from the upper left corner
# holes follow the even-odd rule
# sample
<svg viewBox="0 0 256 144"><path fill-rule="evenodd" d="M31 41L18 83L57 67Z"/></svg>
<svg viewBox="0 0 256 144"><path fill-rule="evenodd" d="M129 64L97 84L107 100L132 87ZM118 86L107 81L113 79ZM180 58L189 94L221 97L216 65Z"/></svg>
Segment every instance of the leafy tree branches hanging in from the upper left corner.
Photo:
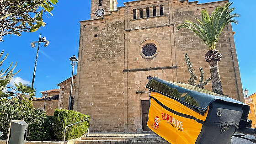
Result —
<svg viewBox="0 0 256 144"><path fill-rule="evenodd" d="M8 34L35 32L45 25L43 12L53 16L53 4L58 0L0 0L0 41Z"/></svg>

